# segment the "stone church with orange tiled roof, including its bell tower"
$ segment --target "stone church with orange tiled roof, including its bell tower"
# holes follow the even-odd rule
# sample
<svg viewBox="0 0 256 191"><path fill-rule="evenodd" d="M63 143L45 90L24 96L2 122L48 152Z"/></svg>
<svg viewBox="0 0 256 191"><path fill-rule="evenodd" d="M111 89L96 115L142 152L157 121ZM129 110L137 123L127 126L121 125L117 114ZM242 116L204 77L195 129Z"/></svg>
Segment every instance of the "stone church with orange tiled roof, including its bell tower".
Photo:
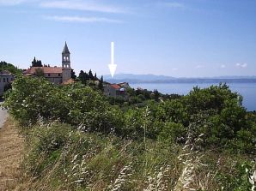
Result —
<svg viewBox="0 0 256 191"><path fill-rule="evenodd" d="M65 42L62 51L62 67L30 67L23 72L24 75L38 76L43 75L48 81L55 84L62 84L71 79L71 66L70 66L70 50Z"/></svg>

